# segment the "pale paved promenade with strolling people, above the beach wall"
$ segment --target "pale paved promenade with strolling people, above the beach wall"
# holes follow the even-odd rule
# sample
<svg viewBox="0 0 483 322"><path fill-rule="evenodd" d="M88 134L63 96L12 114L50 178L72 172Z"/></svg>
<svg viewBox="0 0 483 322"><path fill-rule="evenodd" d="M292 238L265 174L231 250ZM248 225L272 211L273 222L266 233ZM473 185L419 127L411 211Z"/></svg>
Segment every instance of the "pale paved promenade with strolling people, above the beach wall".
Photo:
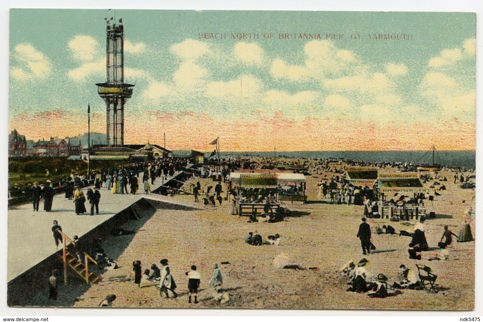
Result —
<svg viewBox="0 0 483 322"><path fill-rule="evenodd" d="M177 174L179 172L176 172L174 176ZM142 173L139 178L142 178ZM164 182L171 178L168 176ZM155 184L151 185L151 191L160 187L161 183L162 178L156 178ZM87 189L82 189L84 195L87 194ZM90 204L88 201L85 202L87 212L84 215L77 216L74 211L73 200L64 198L63 193L54 197L51 212L43 210L43 199L41 199L38 212L33 211L31 203L9 209L7 281L12 280L57 251L51 230L54 220L58 221L62 231L67 236L71 238L74 235L81 237L100 223L110 219L144 197L172 202L168 196L153 193L145 194L142 183L140 183L138 194L114 194L107 188L101 188L99 192L101 194L99 215L96 215L94 211L94 216L90 216ZM61 249L60 245L59 249Z"/></svg>

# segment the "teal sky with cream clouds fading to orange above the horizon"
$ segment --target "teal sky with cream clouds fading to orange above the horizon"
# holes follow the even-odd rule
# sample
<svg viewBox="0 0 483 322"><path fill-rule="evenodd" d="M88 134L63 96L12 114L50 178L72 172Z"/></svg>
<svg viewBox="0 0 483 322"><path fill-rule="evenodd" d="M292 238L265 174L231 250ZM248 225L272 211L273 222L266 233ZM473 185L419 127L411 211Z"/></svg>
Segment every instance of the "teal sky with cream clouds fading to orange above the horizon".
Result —
<svg viewBox="0 0 483 322"><path fill-rule="evenodd" d="M12 9L10 131L82 134L87 103L91 131L106 131L95 83L114 15L135 84L126 144L166 133L167 148L203 151L216 137L224 151L475 148L471 13ZM226 39L199 36L211 33Z"/></svg>

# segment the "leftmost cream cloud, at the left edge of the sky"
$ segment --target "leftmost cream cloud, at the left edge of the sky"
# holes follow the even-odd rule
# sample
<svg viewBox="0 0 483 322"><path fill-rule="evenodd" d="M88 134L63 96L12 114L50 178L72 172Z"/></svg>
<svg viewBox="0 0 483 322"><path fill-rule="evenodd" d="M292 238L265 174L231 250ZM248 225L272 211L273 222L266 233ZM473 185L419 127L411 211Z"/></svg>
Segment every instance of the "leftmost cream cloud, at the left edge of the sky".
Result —
<svg viewBox="0 0 483 322"><path fill-rule="evenodd" d="M50 60L31 44L18 44L13 58L20 66L10 68L12 77L18 80L44 79L51 73Z"/></svg>

